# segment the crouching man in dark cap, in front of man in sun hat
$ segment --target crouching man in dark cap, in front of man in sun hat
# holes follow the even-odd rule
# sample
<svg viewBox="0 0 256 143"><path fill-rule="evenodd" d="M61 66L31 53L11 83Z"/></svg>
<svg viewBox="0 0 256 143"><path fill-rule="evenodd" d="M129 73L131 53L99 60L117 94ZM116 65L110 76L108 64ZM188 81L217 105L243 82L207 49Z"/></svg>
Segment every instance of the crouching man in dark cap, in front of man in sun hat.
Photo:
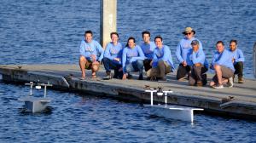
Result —
<svg viewBox="0 0 256 143"><path fill-rule="evenodd" d="M191 73L189 73L189 85L202 86L207 84L208 62L203 50L199 50L199 41L193 40L192 49L189 50L189 63Z"/></svg>

